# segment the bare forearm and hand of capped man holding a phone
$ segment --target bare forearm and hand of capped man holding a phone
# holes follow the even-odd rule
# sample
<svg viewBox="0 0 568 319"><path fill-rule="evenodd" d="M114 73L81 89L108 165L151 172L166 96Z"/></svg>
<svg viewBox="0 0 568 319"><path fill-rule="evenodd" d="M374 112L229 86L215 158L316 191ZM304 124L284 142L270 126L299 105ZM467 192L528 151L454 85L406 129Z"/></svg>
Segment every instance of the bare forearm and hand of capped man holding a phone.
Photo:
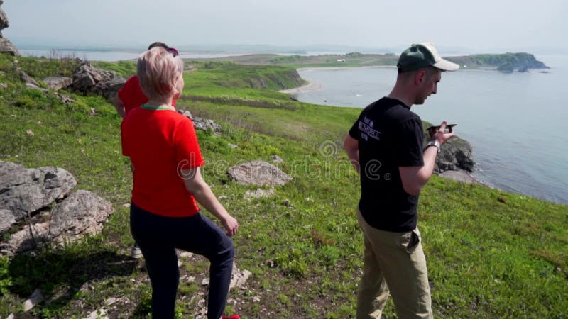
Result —
<svg viewBox="0 0 568 319"><path fill-rule="evenodd" d="M446 129L447 122L442 122L439 130L432 135L432 140L437 140L439 145L443 145L449 138L454 136L452 133L444 133ZM398 167L398 172L400 172L400 179L403 182L403 189L410 195L418 195L432 177L432 172L434 172L434 165L436 164L436 156L438 155L438 147L427 147L424 150L424 165L422 166L410 166L410 167Z"/></svg>

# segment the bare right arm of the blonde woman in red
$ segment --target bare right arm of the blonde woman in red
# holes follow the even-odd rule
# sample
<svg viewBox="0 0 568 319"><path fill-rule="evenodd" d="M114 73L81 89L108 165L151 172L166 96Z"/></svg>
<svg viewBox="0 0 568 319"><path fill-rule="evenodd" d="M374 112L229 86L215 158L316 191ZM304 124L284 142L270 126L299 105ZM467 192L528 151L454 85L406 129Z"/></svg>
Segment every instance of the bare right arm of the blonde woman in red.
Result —
<svg viewBox="0 0 568 319"><path fill-rule="evenodd" d="M226 235L232 236L239 230L239 223L233 216L227 213L226 209L217 200L209 185L203 180L199 167L192 169L182 169L182 178L185 182L185 188L193 197L202 204L202 206L210 211L215 217L221 220L223 227L226 229Z"/></svg>

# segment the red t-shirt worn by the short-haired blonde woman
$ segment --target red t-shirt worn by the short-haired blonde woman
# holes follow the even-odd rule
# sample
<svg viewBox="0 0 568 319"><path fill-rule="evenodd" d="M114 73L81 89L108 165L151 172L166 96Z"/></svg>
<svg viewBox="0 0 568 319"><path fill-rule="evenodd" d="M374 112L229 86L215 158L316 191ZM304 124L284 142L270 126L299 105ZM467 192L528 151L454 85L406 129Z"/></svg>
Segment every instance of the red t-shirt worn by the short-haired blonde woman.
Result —
<svg viewBox="0 0 568 319"><path fill-rule="evenodd" d="M180 169L204 164L192 121L170 108L132 110L121 124L122 154L134 167L132 203L161 216L199 212Z"/></svg>

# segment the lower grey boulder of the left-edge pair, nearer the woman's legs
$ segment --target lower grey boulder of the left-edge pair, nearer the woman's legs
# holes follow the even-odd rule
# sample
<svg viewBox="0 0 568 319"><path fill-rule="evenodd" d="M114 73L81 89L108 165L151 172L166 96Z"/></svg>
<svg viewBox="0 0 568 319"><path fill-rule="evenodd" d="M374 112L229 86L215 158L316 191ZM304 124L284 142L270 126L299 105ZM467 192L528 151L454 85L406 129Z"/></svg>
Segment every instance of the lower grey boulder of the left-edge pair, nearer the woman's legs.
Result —
<svg viewBox="0 0 568 319"><path fill-rule="evenodd" d="M100 233L113 211L109 201L90 191L77 191L39 218L48 221L30 223L13 233L8 242L0 244L0 252L26 252L46 242L61 244L73 242L84 235Z"/></svg>

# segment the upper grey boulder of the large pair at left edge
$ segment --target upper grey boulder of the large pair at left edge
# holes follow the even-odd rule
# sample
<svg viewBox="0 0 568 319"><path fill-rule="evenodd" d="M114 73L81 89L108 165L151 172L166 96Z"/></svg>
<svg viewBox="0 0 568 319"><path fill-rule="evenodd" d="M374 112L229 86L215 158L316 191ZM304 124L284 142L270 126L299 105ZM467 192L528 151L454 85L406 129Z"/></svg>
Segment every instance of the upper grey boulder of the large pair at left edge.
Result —
<svg viewBox="0 0 568 319"><path fill-rule="evenodd" d="M63 198L75 185L75 177L65 169L26 169L0 161L0 208L12 211L16 220Z"/></svg>

